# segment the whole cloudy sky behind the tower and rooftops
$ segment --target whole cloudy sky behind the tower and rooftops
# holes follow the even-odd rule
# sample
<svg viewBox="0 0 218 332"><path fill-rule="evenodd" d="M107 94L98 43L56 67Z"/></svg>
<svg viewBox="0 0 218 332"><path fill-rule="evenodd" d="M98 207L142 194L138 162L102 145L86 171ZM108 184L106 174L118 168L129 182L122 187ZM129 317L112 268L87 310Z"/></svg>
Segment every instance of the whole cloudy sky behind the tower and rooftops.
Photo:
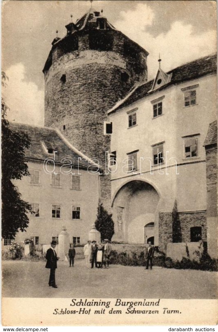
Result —
<svg viewBox="0 0 218 332"><path fill-rule="evenodd" d="M117 29L150 54L148 76L168 71L216 51L216 2L93 1L96 10ZM56 37L65 36L65 25L84 15L90 1L13 1L2 5L2 70L9 77L3 94L11 121L44 124L44 75L42 69Z"/></svg>

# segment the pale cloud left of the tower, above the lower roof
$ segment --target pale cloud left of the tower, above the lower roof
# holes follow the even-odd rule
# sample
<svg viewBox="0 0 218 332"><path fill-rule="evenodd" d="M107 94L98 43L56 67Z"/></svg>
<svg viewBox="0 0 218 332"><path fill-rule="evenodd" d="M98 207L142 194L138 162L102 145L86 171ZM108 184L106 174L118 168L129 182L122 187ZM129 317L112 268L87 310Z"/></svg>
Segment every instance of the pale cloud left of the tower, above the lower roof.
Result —
<svg viewBox="0 0 218 332"><path fill-rule="evenodd" d="M8 68L9 80L2 94L9 111L7 119L26 124L44 125L44 91L34 82L25 81L25 67L16 63Z"/></svg>

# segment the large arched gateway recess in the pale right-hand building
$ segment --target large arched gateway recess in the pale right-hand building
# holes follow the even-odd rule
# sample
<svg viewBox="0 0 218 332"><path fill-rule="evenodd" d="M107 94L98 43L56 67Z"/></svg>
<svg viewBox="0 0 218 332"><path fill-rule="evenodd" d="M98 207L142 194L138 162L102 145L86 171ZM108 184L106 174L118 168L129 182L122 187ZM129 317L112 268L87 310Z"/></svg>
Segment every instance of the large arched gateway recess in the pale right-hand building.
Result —
<svg viewBox="0 0 218 332"><path fill-rule="evenodd" d="M158 241L157 190L149 183L134 180L123 185L112 202L115 234L113 240L128 243Z"/></svg>

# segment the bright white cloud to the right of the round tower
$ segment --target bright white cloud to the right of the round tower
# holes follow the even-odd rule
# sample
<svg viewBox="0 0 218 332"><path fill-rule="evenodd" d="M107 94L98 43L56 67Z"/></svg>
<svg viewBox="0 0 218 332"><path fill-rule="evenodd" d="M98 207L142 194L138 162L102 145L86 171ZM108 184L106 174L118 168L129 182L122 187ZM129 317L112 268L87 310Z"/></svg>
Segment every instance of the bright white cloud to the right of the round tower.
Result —
<svg viewBox="0 0 218 332"><path fill-rule="evenodd" d="M154 78L157 73L159 53L162 59L161 67L168 71L185 62L216 52L215 30L194 34L192 25L175 21L167 33L153 37L146 32L146 26L151 25L154 19L155 14L147 4L138 4L135 10L122 12L121 18L114 23L118 30L150 53L149 79Z"/></svg>

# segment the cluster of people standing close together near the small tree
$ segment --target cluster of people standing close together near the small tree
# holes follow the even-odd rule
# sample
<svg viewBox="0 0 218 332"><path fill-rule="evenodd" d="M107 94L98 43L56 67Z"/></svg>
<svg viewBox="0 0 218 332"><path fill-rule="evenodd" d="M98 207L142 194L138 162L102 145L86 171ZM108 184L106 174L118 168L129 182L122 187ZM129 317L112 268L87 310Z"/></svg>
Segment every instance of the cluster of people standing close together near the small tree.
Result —
<svg viewBox="0 0 218 332"><path fill-rule="evenodd" d="M109 268L111 244L108 239L104 239L104 243L95 240L90 241L84 245L83 252L85 257L85 264L87 268Z"/></svg>

